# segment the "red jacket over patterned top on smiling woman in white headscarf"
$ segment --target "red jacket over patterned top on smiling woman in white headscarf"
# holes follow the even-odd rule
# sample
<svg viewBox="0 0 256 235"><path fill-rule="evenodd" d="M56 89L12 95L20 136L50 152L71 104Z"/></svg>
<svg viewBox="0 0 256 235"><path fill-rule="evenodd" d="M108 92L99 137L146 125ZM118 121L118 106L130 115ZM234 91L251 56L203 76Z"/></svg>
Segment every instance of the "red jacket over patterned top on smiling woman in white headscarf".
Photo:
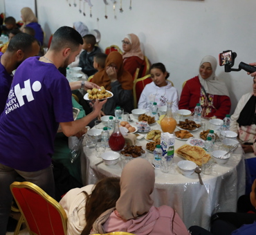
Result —
<svg viewBox="0 0 256 235"><path fill-rule="evenodd" d="M230 113L230 97L227 95L208 95L210 100L213 100L212 104L217 110L208 103L207 98L201 89L199 77L193 77L192 79L189 79L183 87L181 100L179 101L179 109L188 109L194 112L194 107L200 102L203 117L211 118L212 116L215 116L220 119L225 118L226 114Z"/></svg>

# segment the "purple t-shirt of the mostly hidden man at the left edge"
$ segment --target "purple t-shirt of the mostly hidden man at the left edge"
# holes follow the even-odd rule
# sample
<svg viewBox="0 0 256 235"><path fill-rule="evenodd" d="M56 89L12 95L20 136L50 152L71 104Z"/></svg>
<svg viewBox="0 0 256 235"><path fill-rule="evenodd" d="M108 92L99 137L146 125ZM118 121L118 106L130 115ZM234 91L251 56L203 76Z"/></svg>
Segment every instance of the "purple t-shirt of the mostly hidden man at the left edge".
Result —
<svg viewBox="0 0 256 235"><path fill-rule="evenodd" d="M3 53L0 53L0 60ZM7 73L6 68L0 62L0 115L6 106L6 100L12 84L12 76Z"/></svg>

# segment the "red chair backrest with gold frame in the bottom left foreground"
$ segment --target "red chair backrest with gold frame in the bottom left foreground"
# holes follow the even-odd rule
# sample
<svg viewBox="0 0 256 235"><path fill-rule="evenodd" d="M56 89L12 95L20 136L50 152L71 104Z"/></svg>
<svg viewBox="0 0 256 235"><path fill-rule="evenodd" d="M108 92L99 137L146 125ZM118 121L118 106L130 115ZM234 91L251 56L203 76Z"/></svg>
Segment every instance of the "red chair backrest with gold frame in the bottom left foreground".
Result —
<svg viewBox="0 0 256 235"><path fill-rule="evenodd" d="M30 234L66 235L66 213L44 190L32 182L13 182L10 191Z"/></svg>

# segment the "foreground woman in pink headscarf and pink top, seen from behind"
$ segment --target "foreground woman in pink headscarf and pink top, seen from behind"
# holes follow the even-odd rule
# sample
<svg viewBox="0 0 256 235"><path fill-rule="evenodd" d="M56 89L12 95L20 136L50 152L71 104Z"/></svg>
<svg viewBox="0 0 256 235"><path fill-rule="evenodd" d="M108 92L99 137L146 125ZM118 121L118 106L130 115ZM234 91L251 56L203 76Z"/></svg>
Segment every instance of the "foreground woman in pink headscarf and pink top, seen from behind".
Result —
<svg viewBox="0 0 256 235"><path fill-rule="evenodd" d="M116 208L101 214L93 224L94 233L130 232L136 235L189 235L179 215L167 205L154 207L152 164L143 158L127 163L120 179L120 198Z"/></svg>

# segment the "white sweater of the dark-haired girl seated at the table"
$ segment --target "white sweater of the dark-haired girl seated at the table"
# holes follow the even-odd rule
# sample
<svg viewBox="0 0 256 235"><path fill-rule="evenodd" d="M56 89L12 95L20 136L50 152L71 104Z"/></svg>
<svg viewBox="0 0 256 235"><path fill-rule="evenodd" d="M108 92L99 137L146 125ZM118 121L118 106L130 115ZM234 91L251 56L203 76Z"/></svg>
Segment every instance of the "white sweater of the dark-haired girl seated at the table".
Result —
<svg viewBox="0 0 256 235"><path fill-rule="evenodd" d="M172 101L172 112L176 112L179 107L179 95L176 88L168 81L166 86L156 86L151 82L145 86L138 101L138 109L146 109L149 111L149 106L152 102L156 102L157 106L167 106L167 101Z"/></svg>

